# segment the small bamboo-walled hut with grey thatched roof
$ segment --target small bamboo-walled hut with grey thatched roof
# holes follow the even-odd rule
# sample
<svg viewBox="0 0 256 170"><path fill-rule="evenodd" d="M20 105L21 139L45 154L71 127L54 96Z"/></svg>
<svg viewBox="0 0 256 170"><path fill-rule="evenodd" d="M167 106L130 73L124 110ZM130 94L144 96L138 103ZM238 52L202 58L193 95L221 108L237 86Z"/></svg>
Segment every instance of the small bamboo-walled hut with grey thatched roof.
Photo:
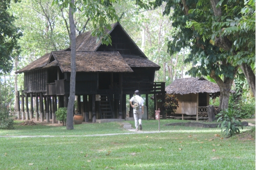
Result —
<svg viewBox="0 0 256 170"><path fill-rule="evenodd" d="M210 97L220 95L217 84L201 78L176 79L165 88L168 94L174 94L179 101L176 114L183 115L207 115L207 107Z"/></svg>

